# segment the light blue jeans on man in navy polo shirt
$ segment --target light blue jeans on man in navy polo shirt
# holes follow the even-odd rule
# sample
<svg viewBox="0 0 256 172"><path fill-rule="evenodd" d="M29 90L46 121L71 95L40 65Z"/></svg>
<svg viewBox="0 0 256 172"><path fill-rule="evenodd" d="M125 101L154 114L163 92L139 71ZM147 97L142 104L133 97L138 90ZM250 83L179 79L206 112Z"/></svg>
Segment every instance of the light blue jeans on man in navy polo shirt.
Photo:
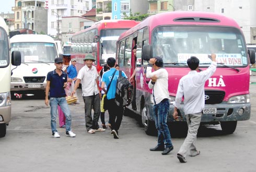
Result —
<svg viewBox="0 0 256 172"><path fill-rule="evenodd" d="M57 108L58 105L61 106L61 109L66 117L66 131L71 130L71 113L68 108L68 104L65 97L51 97L50 98L50 106L51 106L51 128L52 132L57 131L56 129L56 116L57 116Z"/></svg>

